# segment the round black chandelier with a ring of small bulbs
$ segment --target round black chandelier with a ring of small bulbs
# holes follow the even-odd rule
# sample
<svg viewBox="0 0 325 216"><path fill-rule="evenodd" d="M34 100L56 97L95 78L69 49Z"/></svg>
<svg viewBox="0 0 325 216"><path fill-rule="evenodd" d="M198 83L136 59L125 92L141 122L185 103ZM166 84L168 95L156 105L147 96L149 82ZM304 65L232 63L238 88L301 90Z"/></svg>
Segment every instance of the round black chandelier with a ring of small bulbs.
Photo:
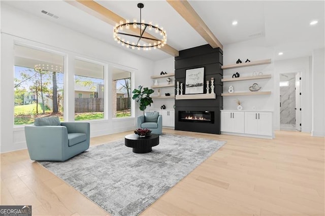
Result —
<svg viewBox="0 0 325 216"><path fill-rule="evenodd" d="M125 46L130 49L138 49L140 50L151 50L151 48L161 48L164 47L167 43L167 34L166 30L163 27L158 27L158 25L152 25L152 22L145 23L144 20L141 19L141 9L144 7L142 3L138 4L138 8L140 8L140 22L137 22L137 19L133 19L133 22L129 20L125 20L125 23L121 20L119 24L116 24L114 27L114 41L117 41L118 44ZM134 34L135 31L131 31L130 28L137 29L139 28L139 34ZM157 37L145 37L143 34L146 30L155 33ZM148 31L147 31L148 32ZM145 42L142 42L145 41ZM142 42L142 44L140 43Z"/></svg>

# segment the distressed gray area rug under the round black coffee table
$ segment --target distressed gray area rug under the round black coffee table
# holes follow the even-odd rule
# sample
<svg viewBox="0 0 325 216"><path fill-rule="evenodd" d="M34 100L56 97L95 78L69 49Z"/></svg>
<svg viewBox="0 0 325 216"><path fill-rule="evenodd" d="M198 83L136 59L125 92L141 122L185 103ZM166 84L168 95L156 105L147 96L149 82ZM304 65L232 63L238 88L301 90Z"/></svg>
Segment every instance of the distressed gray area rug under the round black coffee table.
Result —
<svg viewBox="0 0 325 216"><path fill-rule="evenodd" d="M65 162L39 163L110 214L138 215L224 143L163 134L146 154L133 153L123 139Z"/></svg>

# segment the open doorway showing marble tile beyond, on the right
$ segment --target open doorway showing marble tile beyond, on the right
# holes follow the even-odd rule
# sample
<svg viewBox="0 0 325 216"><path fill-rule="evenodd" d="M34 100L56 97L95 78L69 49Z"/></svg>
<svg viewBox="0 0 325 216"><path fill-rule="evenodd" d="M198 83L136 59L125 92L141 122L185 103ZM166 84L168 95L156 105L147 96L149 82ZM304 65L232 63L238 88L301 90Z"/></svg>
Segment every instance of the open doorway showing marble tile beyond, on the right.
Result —
<svg viewBox="0 0 325 216"><path fill-rule="evenodd" d="M300 73L280 74L280 130L301 131Z"/></svg>

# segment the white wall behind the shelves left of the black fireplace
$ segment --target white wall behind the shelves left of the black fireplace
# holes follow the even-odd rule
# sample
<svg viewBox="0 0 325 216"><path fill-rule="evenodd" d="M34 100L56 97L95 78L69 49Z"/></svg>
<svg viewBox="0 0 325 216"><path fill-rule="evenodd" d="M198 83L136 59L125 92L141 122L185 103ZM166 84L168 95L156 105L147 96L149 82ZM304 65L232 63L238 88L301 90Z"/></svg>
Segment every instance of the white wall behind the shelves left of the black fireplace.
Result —
<svg viewBox="0 0 325 216"><path fill-rule="evenodd" d="M175 58L170 57L163 60L155 61L154 62L154 69L153 75L160 76L161 71L167 72L167 74L174 74L175 73ZM158 85L167 84L167 78L159 78L157 79ZM151 85L154 84L154 80L151 80ZM171 95L175 95L175 79L171 77L171 84L172 87L167 88L160 88L160 95L165 95L165 93L170 93ZM153 95L158 94L158 89L154 89ZM153 105L150 109L160 109L162 105L166 106L166 110L174 110L173 106L175 104L175 99L168 98L168 99L153 99Z"/></svg>

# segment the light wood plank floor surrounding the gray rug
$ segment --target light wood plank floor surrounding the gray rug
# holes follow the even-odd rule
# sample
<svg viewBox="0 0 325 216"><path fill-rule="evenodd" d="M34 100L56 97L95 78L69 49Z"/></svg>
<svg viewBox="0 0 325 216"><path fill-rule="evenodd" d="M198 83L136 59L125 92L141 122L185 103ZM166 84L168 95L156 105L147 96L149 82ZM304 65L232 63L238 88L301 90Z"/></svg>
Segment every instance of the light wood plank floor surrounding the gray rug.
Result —
<svg viewBox="0 0 325 216"><path fill-rule="evenodd" d="M325 139L277 131L273 140L164 129L227 143L142 215L324 215ZM125 133L91 138L91 145ZM105 215L26 150L1 154L1 205L32 205L33 215Z"/></svg>

